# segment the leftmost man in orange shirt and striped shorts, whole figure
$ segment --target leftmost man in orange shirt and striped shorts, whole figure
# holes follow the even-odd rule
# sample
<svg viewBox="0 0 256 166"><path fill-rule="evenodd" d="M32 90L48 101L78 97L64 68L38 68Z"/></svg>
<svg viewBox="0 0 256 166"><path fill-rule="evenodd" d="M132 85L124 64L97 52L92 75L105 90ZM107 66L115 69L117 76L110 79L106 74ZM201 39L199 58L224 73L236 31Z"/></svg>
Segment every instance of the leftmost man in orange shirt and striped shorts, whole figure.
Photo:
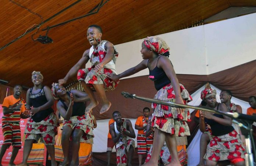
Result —
<svg viewBox="0 0 256 166"><path fill-rule="evenodd" d="M21 148L21 129L19 126L20 118L28 118L28 112L24 113L26 108L24 102L21 100L20 95L22 87L20 85L14 86L14 94L4 98L3 102L3 120L2 130L4 135L4 143L0 151L0 165L6 149L13 145L13 152L11 155L9 165L15 165L14 159L16 158L19 149Z"/></svg>

